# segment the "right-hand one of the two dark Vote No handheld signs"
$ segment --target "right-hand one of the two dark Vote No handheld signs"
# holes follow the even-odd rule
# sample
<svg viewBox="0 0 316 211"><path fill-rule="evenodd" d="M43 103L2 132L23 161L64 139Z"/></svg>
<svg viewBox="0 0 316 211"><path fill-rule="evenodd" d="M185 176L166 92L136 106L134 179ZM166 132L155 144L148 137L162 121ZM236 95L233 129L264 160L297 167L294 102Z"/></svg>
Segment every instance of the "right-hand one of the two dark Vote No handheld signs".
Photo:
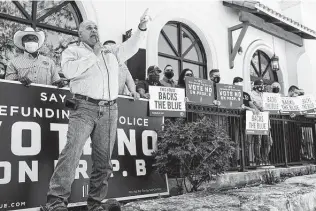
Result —
<svg viewBox="0 0 316 211"><path fill-rule="evenodd" d="M243 104L242 86L216 84L217 100L222 108L240 108Z"/></svg>

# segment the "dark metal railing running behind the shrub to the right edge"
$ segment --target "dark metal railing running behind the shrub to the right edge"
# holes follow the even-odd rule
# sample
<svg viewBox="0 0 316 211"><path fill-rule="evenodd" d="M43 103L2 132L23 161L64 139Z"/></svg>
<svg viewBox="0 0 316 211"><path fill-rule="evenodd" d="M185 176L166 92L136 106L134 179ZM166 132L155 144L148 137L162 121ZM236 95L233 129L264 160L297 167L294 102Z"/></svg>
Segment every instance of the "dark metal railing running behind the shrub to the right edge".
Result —
<svg viewBox="0 0 316 211"><path fill-rule="evenodd" d="M289 166L315 162L316 121L313 118L270 115L270 135L246 135L245 112L187 103L187 121L209 115L237 145L231 170L259 166Z"/></svg>

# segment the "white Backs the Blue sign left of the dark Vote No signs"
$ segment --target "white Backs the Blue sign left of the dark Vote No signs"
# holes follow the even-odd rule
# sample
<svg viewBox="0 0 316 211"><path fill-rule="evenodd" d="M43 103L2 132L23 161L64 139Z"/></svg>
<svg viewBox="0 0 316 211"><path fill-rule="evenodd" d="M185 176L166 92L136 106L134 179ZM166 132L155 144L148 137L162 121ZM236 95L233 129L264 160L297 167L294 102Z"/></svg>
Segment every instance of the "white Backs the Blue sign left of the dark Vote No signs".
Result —
<svg viewBox="0 0 316 211"><path fill-rule="evenodd" d="M186 117L184 89L149 86L149 116Z"/></svg>

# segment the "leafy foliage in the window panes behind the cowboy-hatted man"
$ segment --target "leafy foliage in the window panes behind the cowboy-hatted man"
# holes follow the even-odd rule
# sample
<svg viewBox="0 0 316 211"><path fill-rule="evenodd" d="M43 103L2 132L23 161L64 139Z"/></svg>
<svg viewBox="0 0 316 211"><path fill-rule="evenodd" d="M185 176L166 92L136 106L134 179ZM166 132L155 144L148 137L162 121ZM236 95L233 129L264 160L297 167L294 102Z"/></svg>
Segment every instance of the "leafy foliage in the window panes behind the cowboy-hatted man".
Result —
<svg viewBox="0 0 316 211"><path fill-rule="evenodd" d="M32 1L20 1L22 7L31 15ZM61 4L61 1L38 1L37 18L46 14L53 7ZM11 1L0 1L0 13L9 14L19 18L25 18L19 9ZM52 25L55 27L76 31L79 21L70 4L65 5L61 10L51 14L41 23ZM7 65L8 61L18 56L22 51L15 47L13 36L19 30L24 30L27 25L1 19L0 21L0 63ZM76 36L67 35L62 32L51 31L47 29L37 28L45 32L45 43L40 49L41 53L51 58L58 70L60 70L60 57L62 51L69 43L77 41Z"/></svg>

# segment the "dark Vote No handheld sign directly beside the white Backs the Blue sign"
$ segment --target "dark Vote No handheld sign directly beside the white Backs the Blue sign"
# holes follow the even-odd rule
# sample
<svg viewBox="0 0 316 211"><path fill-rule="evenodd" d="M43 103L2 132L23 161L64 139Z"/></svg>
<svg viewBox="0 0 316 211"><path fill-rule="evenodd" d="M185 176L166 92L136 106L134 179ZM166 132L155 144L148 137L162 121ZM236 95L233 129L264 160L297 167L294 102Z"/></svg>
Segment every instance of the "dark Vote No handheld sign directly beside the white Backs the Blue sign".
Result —
<svg viewBox="0 0 316 211"><path fill-rule="evenodd" d="M211 105L214 101L214 85L212 81L186 77L186 96L190 102Z"/></svg>

